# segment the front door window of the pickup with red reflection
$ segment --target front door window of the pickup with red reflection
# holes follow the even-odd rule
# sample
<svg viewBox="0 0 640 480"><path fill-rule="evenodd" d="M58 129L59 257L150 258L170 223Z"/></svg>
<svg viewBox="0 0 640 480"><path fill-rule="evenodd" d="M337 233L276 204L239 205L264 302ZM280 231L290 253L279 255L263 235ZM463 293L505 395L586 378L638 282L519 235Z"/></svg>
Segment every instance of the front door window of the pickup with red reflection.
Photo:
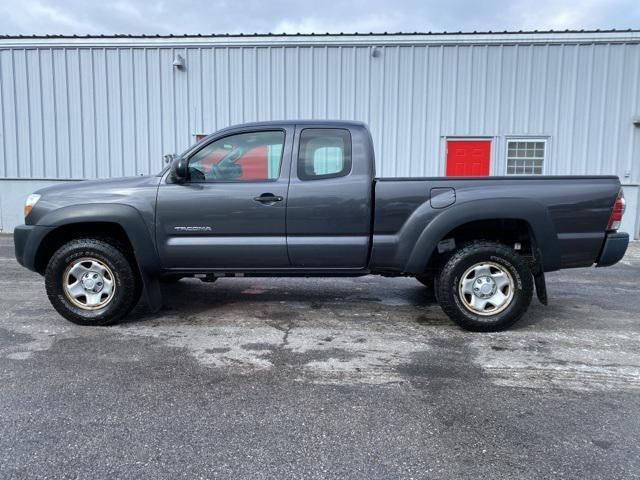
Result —
<svg viewBox="0 0 640 480"><path fill-rule="evenodd" d="M280 175L284 132L239 133L216 140L189 159L191 182L274 181Z"/></svg>

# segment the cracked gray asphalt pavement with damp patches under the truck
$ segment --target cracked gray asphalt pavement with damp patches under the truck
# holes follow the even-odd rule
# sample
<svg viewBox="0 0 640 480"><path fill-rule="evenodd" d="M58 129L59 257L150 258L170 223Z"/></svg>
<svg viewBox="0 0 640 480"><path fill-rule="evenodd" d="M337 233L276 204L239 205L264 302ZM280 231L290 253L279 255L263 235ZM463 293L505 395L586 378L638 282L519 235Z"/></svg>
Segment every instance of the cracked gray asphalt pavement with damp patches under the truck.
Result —
<svg viewBox="0 0 640 480"><path fill-rule="evenodd" d="M0 236L0 478L640 478L640 245L503 333L410 278L188 279L66 322Z"/></svg>

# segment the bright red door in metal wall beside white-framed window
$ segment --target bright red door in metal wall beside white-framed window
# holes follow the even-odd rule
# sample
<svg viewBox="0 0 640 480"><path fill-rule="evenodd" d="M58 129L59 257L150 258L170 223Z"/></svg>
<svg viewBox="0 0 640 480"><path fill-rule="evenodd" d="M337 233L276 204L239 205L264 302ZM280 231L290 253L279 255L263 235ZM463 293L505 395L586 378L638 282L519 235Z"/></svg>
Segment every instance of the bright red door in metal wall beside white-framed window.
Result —
<svg viewBox="0 0 640 480"><path fill-rule="evenodd" d="M489 175L491 140L447 140L447 177Z"/></svg>

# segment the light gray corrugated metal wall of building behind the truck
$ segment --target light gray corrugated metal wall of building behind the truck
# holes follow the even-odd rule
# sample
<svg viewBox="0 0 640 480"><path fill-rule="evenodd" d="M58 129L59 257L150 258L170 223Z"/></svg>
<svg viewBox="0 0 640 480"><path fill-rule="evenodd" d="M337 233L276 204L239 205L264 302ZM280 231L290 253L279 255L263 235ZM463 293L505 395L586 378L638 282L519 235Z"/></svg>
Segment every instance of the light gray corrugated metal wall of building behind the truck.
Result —
<svg viewBox="0 0 640 480"><path fill-rule="evenodd" d="M637 43L376 48L2 48L0 178L155 172L195 133L332 118L370 125L381 176L443 174L446 136L494 137L504 174L505 136L538 135L547 174L640 182Z"/></svg>

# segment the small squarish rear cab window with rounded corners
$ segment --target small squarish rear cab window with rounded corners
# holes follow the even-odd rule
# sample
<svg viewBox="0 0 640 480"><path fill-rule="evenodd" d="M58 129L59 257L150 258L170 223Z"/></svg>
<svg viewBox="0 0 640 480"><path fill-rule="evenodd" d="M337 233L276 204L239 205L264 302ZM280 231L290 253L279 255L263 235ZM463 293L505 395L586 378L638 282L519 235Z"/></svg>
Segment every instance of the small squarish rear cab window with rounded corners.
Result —
<svg viewBox="0 0 640 480"><path fill-rule="evenodd" d="M351 134L342 128L305 128L300 133L298 177L319 180L351 171Z"/></svg>

